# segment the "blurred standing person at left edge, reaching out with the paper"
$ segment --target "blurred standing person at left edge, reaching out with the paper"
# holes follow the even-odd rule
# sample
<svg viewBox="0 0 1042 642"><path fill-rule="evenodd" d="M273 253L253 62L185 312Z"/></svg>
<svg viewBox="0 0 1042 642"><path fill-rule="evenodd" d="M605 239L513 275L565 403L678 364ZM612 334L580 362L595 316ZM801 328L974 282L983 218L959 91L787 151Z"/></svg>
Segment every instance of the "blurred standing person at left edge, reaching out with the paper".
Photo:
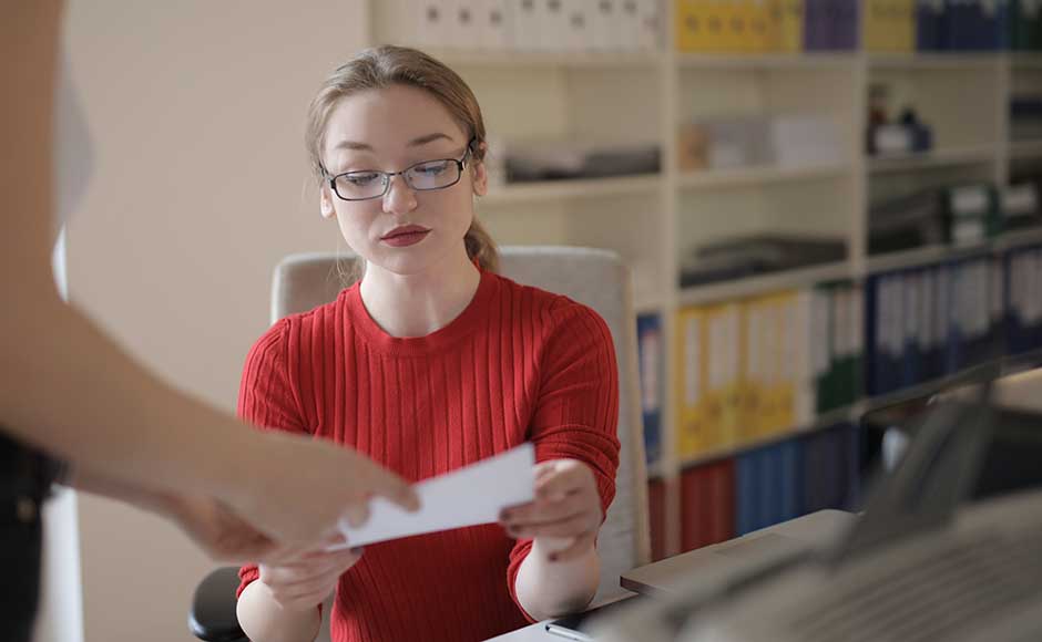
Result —
<svg viewBox="0 0 1042 642"><path fill-rule="evenodd" d="M0 4L0 638L13 642L32 635L40 504L62 468L79 487L160 511L211 553L237 560L277 560L328 540L345 510L364 510L374 493L416 503L400 478L350 451L258 434L170 387L59 298L53 195L68 179L52 176L60 19L58 0ZM316 485L321 497L298 501Z"/></svg>

